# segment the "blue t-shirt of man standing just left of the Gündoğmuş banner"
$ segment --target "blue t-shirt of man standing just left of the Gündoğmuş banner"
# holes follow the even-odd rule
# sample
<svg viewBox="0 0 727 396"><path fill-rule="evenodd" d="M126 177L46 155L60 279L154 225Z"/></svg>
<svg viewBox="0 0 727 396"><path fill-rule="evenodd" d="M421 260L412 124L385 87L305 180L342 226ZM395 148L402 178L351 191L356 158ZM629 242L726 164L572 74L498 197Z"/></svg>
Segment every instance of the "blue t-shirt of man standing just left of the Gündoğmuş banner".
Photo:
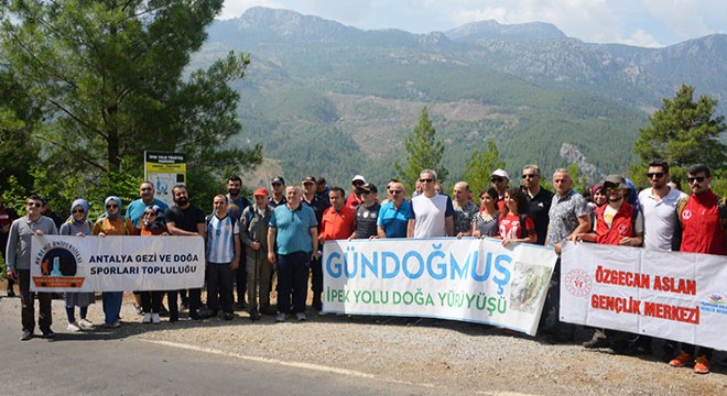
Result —
<svg viewBox="0 0 727 396"><path fill-rule="evenodd" d="M315 213L307 205L301 204L291 210L287 205L275 208L270 217L270 227L278 229L278 253L313 252L311 228L317 228Z"/></svg>

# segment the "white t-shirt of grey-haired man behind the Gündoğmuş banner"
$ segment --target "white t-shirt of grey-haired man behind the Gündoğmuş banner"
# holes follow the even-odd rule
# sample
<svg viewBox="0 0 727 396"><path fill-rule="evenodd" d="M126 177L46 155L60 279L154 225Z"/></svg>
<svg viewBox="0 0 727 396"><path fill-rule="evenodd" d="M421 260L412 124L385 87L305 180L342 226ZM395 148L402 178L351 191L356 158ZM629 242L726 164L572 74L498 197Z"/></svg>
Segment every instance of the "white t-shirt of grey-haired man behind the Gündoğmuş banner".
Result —
<svg viewBox="0 0 727 396"><path fill-rule="evenodd" d="M437 194L432 198L417 195L412 198L412 211L416 224L414 238L447 237L445 219L454 216L452 198L445 194Z"/></svg>

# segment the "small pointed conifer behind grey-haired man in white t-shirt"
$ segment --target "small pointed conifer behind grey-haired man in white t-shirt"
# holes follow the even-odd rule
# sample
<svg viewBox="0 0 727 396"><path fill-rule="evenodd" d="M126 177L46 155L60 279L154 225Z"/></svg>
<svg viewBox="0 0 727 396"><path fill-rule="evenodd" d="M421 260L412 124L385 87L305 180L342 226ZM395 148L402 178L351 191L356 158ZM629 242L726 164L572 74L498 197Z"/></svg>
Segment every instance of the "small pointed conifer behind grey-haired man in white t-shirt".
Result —
<svg viewBox="0 0 727 396"><path fill-rule="evenodd" d="M436 130L432 127L430 113L424 108L414 131L404 138L405 164L402 165L398 161L394 163L394 169L406 186L406 191L414 190L416 179L423 169L433 169L437 173L440 182L446 180L449 173L440 164L444 154L444 144L436 140L435 135Z"/></svg>

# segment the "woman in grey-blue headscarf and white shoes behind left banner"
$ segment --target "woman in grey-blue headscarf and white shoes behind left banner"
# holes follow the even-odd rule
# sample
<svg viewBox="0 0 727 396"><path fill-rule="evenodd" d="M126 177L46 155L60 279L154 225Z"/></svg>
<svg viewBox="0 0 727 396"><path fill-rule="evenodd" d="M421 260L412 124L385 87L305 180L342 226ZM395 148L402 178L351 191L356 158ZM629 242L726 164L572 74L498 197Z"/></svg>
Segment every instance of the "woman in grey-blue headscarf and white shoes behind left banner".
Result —
<svg viewBox="0 0 727 396"><path fill-rule="evenodd" d="M91 234L94 223L88 219L88 201L76 199L70 204L70 217L61 224L61 235L86 237ZM86 319L88 306L94 304L96 295L94 293L66 293L66 315L68 316L68 331L76 332L80 330L94 329L94 323ZM80 320L76 321L75 307L78 307Z"/></svg>

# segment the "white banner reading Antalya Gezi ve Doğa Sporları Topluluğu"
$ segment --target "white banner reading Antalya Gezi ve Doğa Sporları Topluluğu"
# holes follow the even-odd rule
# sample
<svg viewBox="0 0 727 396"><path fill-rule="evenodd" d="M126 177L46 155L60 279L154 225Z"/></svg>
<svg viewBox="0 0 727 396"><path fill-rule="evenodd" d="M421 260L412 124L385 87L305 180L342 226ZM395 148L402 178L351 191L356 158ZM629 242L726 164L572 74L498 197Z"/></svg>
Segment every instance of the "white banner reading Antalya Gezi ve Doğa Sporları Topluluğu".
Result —
<svg viewBox="0 0 727 396"><path fill-rule="evenodd" d="M37 292L196 288L205 244L198 237L33 237L31 278Z"/></svg>

